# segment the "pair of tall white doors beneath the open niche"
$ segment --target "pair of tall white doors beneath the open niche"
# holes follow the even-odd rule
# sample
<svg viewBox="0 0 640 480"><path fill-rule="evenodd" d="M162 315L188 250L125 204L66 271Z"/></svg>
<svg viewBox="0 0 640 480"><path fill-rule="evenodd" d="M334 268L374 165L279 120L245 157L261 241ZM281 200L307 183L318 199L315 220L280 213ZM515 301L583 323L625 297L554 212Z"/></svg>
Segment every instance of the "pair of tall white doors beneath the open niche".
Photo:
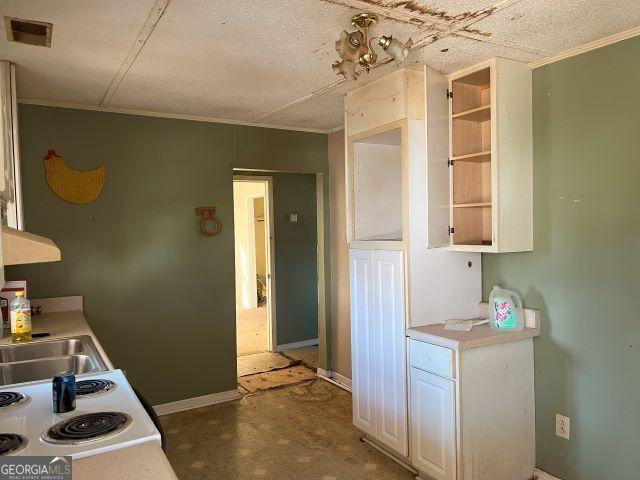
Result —
<svg viewBox="0 0 640 480"><path fill-rule="evenodd" d="M349 252L353 423L408 456L403 252Z"/></svg>

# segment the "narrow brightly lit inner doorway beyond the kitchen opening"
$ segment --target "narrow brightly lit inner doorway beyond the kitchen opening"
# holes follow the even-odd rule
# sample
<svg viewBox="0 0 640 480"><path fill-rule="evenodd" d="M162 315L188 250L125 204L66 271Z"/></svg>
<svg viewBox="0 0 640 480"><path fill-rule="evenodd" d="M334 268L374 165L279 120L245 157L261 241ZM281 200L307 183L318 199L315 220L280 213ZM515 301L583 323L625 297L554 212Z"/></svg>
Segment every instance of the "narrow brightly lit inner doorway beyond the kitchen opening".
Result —
<svg viewBox="0 0 640 480"><path fill-rule="evenodd" d="M234 177L238 356L273 352L273 210L270 177Z"/></svg>

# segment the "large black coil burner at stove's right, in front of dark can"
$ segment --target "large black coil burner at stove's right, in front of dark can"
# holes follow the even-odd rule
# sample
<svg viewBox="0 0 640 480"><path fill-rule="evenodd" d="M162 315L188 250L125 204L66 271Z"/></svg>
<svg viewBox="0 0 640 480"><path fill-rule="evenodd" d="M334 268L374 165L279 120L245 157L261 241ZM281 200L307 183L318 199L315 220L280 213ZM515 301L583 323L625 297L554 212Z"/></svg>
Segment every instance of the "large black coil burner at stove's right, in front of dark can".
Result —
<svg viewBox="0 0 640 480"><path fill-rule="evenodd" d="M57 423L42 436L49 443L82 443L102 440L120 433L131 423L131 417L120 412L98 412L78 415Z"/></svg>

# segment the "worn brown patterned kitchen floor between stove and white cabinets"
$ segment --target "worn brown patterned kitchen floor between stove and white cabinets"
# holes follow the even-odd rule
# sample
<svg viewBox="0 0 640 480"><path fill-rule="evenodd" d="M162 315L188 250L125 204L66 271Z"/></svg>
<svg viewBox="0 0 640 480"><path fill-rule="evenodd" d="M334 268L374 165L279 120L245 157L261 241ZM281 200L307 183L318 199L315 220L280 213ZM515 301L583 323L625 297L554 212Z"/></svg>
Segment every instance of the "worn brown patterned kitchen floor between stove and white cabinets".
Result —
<svg viewBox="0 0 640 480"><path fill-rule="evenodd" d="M160 417L181 480L410 480L360 441L351 394L322 380Z"/></svg>

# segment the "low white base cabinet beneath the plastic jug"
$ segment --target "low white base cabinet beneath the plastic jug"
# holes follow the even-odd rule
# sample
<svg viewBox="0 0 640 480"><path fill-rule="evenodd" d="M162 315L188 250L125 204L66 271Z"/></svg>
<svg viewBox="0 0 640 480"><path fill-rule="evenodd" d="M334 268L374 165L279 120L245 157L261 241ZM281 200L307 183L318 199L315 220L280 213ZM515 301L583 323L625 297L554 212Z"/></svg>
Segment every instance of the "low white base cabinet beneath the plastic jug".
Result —
<svg viewBox="0 0 640 480"><path fill-rule="evenodd" d="M430 326L409 335L431 332L436 341L437 329L444 332ZM469 333L444 333L443 343L455 349L408 341L411 463L423 478L529 480L533 474L533 340L526 334L515 341L492 343L504 340L494 337L470 345L491 337L489 330L485 325ZM538 332L530 329L530 335Z"/></svg>

